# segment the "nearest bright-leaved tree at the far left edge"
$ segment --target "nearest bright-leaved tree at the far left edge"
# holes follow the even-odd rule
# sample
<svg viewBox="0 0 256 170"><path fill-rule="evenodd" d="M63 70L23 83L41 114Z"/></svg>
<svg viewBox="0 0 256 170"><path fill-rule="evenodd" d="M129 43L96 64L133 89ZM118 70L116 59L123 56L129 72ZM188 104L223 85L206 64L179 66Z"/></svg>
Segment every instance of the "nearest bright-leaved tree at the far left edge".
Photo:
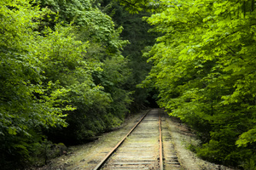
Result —
<svg viewBox="0 0 256 170"><path fill-rule="evenodd" d="M62 111L73 107L55 101L67 93L65 89L50 91L42 85L43 63L36 54L38 41L44 39L34 30L49 12L24 0L0 4L0 150L1 167L9 169L28 158L42 138L38 133L42 127L67 126ZM42 50L42 55L46 53Z"/></svg>

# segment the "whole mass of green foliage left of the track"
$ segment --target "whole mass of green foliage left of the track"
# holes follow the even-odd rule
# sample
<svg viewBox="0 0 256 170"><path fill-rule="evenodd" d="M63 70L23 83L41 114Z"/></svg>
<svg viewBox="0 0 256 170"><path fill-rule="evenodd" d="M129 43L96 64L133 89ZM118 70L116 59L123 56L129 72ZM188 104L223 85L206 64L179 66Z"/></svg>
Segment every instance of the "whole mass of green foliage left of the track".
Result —
<svg viewBox="0 0 256 170"><path fill-rule="evenodd" d="M3 169L35 155L45 163L46 138L84 141L119 126L130 70L120 53L127 42L107 14L90 1L4 0L0 15Z"/></svg>

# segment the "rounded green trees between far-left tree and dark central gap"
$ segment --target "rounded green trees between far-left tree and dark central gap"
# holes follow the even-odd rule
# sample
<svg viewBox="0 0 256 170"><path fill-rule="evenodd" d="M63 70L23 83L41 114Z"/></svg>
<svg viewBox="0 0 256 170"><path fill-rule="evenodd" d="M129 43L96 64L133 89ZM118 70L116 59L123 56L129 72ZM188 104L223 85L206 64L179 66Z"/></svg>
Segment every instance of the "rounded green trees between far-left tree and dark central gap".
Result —
<svg viewBox="0 0 256 170"><path fill-rule="evenodd" d="M44 65L45 77L55 82L54 88L67 89L61 101L73 105L76 110L69 112L67 128L51 128L44 132L54 141L83 142L118 126L128 111L131 93L122 85L130 71L126 68L127 61L120 55L127 41L119 38L121 27L115 30L111 18L92 8L89 2L55 1L51 4L44 1L41 4L46 8L48 5L64 23L73 21L73 26L52 25L57 34L41 45L49 51L49 57L44 58L44 63L50 63ZM55 42L58 38L61 42Z"/></svg>

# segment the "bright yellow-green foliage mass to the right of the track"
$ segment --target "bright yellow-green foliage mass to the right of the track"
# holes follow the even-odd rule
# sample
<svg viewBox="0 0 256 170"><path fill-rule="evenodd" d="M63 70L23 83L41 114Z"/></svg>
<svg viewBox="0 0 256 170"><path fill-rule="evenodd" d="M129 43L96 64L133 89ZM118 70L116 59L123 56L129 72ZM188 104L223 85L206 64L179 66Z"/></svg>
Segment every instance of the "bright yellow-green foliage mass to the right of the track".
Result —
<svg viewBox="0 0 256 170"><path fill-rule="evenodd" d="M199 133L199 156L237 166L255 155L254 1L160 1L149 17L161 32L145 56L141 86Z"/></svg>

